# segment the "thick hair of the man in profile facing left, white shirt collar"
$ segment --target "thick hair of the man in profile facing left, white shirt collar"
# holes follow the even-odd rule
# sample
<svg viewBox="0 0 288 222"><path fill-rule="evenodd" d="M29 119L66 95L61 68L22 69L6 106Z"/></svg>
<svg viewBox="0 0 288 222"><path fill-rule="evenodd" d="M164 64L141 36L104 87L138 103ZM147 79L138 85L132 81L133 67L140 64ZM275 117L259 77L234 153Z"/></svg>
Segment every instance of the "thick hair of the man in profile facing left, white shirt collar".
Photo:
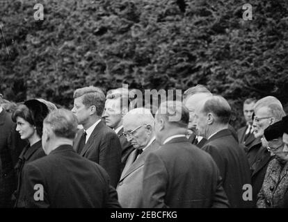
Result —
<svg viewBox="0 0 288 222"><path fill-rule="evenodd" d="M101 117L105 107L104 92L98 87L89 86L76 89L74 92L74 99L83 96L82 103L86 107L95 105L97 116Z"/></svg>

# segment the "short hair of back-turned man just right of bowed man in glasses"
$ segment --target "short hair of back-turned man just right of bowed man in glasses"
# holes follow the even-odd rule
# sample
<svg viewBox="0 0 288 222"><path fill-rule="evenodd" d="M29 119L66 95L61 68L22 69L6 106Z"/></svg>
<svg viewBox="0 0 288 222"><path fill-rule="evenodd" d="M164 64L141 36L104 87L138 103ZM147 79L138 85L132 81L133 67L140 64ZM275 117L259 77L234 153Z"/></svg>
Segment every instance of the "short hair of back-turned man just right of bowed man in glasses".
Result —
<svg viewBox="0 0 288 222"><path fill-rule="evenodd" d="M189 110L180 101L166 101L159 105L157 117L162 115L166 122L179 128L187 128L189 123Z"/></svg>

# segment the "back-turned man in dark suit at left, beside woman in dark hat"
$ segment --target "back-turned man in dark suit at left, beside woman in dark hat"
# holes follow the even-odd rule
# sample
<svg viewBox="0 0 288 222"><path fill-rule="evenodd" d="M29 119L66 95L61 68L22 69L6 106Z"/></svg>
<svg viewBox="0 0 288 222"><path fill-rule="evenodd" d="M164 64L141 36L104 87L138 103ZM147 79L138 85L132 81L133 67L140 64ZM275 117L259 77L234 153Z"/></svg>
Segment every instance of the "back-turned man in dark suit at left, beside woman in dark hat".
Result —
<svg viewBox="0 0 288 222"><path fill-rule="evenodd" d="M45 119L47 156L23 169L23 207L120 207L106 171L72 148L76 132L77 117L69 110L55 110Z"/></svg>

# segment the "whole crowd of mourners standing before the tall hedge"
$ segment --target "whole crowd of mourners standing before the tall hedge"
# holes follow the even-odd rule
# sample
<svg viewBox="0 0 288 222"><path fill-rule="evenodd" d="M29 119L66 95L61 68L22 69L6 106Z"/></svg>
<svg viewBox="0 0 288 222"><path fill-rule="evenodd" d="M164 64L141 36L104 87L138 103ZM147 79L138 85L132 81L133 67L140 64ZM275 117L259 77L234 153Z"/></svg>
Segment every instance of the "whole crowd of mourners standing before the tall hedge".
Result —
<svg viewBox="0 0 288 222"><path fill-rule="evenodd" d="M243 103L246 126L203 85L157 112L125 88L5 108L0 207L288 207L288 118L273 96ZM6 105L3 105L3 104Z"/></svg>

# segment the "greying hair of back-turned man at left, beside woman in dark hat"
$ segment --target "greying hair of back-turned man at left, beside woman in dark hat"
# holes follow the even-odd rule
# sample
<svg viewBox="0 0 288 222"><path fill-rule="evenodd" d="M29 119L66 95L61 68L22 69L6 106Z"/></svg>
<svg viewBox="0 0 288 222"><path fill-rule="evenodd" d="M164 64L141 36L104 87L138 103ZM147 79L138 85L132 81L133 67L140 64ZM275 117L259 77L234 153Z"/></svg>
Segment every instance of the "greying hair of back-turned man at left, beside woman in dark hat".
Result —
<svg viewBox="0 0 288 222"><path fill-rule="evenodd" d="M44 123L49 124L56 137L74 139L77 133L77 117L70 111L58 109L50 112Z"/></svg>

